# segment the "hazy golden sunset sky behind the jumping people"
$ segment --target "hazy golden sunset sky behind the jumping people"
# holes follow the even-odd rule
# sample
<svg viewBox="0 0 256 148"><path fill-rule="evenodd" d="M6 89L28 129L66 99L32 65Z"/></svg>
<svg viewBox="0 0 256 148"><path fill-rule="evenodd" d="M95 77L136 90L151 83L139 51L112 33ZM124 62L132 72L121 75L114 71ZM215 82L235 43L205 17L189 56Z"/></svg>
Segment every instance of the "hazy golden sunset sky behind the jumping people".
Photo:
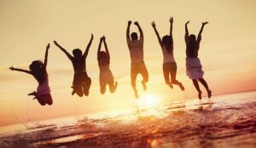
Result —
<svg viewBox="0 0 256 148"><path fill-rule="evenodd" d="M202 33L199 57L212 94L255 90L255 8L255 0L0 0L0 125L132 107L136 99L131 88L131 61L125 39L128 20L137 20L144 32L149 83L147 92L143 92L142 77L138 77L141 96L155 96L159 103L184 99L179 88L171 89L164 82L163 57L150 25L154 20L162 37L169 32L170 16L174 18L177 80L183 83L188 98L196 98L197 92L185 73L183 36L187 20L190 20L189 33L195 35L201 22L209 21ZM131 31L137 31L133 24ZM53 40L70 53L73 48L84 51L90 33L94 34L87 58L87 72L92 79L90 96L79 98L71 95L72 64ZM100 94L96 49L102 35L107 38L110 67L119 82L115 94L109 91ZM41 106L27 96L38 86L35 79L9 71L9 66L28 69L32 60L44 60L47 43L50 43L48 73L54 104ZM202 86L201 90L205 96Z"/></svg>

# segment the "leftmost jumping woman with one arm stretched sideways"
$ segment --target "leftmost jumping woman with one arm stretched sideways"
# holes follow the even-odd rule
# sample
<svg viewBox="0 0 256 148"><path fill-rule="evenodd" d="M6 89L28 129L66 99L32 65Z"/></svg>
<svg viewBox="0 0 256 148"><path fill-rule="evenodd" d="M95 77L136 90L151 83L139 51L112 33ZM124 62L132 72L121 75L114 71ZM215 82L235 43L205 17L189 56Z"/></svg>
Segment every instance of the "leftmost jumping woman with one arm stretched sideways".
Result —
<svg viewBox="0 0 256 148"><path fill-rule="evenodd" d="M50 95L48 74L46 71L47 60L48 60L48 50L49 50L49 43L46 47L44 63L40 60L32 61L32 64L29 65L30 71L15 68L13 66L9 67L9 69L12 71L25 72L35 77L35 79L38 81L37 92L34 91L28 95L33 95L34 96L33 99L37 99L40 105L45 105L45 104L52 105L53 103Z"/></svg>

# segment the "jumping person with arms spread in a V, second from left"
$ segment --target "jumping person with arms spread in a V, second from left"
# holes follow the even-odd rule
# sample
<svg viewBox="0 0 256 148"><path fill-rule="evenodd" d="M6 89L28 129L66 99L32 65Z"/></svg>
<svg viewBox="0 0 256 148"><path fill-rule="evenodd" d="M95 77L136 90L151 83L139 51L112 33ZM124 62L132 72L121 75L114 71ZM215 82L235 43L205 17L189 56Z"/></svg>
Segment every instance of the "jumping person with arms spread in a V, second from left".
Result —
<svg viewBox="0 0 256 148"><path fill-rule="evenodd" d="M79 48L73 49L73 56L67 52L65 48L62 48L59 43L54 41L55 45L60 48L66 55L69 60L71 60L73 64L73 92L72 94L78 94L79 97L82 97L83 94L85 96L89 95L90 89L90 77L88 77L86 72L86 57L89 52L90 44L92 43L93 35L91 34L90 42L87 45L87 48L82 54L82 51Z"/></svg>

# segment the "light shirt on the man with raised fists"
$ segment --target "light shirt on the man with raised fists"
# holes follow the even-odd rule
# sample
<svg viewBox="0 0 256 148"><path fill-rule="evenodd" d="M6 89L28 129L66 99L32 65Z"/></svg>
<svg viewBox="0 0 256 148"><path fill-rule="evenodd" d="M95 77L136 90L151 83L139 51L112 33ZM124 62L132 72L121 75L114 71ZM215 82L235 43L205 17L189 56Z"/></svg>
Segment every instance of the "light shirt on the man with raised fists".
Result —
<svg viewBox="0 0 256 148"><path fill-rule="evenodd" d="M128 48L130 50L131 64L139 64L144 62L143 43L143 37L140 37L139 40L135 41L127 39Z"/></svg>

